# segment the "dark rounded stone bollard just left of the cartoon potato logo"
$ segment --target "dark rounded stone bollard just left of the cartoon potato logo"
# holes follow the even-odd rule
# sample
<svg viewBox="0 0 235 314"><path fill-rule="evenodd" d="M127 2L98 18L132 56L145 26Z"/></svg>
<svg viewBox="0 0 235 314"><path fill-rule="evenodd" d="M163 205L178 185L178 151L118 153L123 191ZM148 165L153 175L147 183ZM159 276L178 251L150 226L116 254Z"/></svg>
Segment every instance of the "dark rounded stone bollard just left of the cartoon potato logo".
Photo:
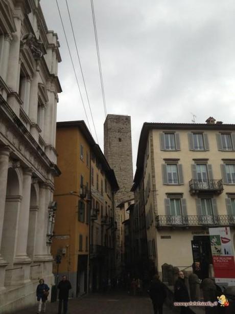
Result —
<svg viewBox="0 0 235 314"><path fill-rule="evenodd" d="M201 284L202 292L203 292L203 299L204 301L215 302L218 301L217 299L217 288L214 281L210 278L205 278ZM218 308L217 307L209 307L205 306L205 313L206 314L217 314Z"/></svg>

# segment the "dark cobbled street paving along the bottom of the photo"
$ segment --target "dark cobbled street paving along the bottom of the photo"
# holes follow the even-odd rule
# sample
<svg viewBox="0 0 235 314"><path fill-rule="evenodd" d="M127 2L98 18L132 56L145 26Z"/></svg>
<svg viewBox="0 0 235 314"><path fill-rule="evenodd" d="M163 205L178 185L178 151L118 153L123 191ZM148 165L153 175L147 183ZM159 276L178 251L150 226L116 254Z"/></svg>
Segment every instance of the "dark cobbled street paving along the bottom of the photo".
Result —
<svg viewBox="0 0 235 314"><path fill-rule="evenodd" d="M58 302L47 303L46 313L57 314ZM35 314L37 307L27 308L15 314ZM163 314L176 314L177 311L164 305ZM113 292L110 294L90 294L81 299L68 301L67 314L153 314L152 302L148 297L133 297Z"/></svg>

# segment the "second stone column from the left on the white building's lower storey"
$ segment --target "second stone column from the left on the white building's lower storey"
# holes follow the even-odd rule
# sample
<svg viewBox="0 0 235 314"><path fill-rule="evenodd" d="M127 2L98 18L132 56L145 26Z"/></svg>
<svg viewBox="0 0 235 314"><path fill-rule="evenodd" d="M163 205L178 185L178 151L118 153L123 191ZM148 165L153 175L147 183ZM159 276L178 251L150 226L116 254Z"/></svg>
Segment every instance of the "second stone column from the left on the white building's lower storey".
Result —
<svg viewBox="0 0 235 314"><path fill-rule="evenodd" d="M20 205L18 234L15 262L29 261L27 255L30 193L31 193L32 169L28 168L23 172L22 201Z"/></svg>

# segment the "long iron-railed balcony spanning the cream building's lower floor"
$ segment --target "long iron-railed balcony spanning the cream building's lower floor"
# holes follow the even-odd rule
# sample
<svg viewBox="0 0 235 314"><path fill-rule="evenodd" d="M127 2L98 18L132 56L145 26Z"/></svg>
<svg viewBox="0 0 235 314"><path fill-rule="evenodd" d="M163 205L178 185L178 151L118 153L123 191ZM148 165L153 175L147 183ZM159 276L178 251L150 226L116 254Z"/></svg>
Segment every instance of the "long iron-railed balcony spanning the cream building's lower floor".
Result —
<svg viewBox="0 0 235 314"><path fill-rule="evenodd" d="M235 226L235 216L232 215L158 215L156 226L160 227L195 227L195 226Z"/></svg>

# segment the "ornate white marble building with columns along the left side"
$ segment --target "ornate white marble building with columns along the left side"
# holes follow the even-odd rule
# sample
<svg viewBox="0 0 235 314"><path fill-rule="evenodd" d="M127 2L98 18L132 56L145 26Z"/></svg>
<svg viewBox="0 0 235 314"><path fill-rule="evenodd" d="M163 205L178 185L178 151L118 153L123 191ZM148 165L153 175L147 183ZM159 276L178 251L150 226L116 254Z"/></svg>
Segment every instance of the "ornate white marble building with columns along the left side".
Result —
<svg viewBox="0 0 235 314"><path fill-rule="evenodd" d="M36 302L51 286L57 34L39 0L0 1L0 313Z"/></svg>

